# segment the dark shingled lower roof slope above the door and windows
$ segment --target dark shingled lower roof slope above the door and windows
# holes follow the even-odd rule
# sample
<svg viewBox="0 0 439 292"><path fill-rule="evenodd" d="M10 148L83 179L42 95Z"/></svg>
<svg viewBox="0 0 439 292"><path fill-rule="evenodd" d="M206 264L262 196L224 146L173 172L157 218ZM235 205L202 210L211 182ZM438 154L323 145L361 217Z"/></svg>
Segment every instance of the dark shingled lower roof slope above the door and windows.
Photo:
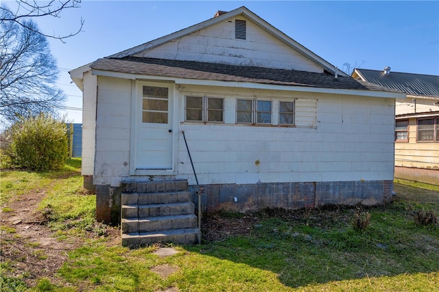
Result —
<svg viewBox="0 0 439 292"><path fill-rule="evenodd" d="M237 66L206 62L180 61L126 57L102 58L91 64L91 68L135 75L152 75L180 79L202 79L211 81L249 82L272 85L305 86L343 90L372 90L399 92L373 83L329 73L305 72L253 66Z"/></svg>

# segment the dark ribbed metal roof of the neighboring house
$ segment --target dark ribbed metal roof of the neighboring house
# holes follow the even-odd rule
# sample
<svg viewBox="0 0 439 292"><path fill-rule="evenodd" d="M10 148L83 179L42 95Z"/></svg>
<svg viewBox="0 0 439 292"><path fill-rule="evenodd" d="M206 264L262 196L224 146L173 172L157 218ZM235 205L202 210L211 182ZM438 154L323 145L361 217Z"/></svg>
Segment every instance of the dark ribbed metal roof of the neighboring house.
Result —
<svg viewBox="0 0 439 292"><path fill-rule="evenodd" d="M353 75L359 75L367 82L399 90L414 96L432 96L439 98L439 76L403 72L385 75L383 70L356 68Z"/></svg>

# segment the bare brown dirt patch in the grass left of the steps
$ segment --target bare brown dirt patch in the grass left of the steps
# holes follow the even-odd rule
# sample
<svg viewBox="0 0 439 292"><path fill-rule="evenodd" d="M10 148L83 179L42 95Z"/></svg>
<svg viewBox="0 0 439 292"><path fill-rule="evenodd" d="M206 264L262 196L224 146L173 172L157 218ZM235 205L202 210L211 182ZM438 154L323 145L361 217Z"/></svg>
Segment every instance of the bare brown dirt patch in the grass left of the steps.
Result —
<svg viewBox="0 0 439 292"><path fill-rule="evenodd" d="M40 278L49 278L53 284L64 284L56 271L67 261L68 252L84 245L84 238L69 237L58 240L47 226L44 213L36 212L38 204L45 197L45 190L24 194L8 202L8 212L0 211L1 262L8 269L2 269L3 276L23 278L34 287ZM120 235L108 226L106 236L109 245L120 243ZM97 237L87 233L86 237Z"/></svg>

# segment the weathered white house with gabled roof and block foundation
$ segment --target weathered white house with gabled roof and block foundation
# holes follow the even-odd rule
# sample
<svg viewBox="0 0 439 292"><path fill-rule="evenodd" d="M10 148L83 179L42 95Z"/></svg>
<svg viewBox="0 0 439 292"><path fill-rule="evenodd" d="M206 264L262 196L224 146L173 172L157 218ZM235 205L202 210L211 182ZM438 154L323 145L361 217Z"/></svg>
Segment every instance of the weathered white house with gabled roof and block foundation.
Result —
<svg viewBox="0 0 439 292"><path fill-rule="evenodd" d="M207 211L392 196L394 100L405 95L337 71L245 7L70 74L83 91L82 174L99 220L140 213L121 205L164 191L159 181L187 181L195 194L185 138Z"/></svg>

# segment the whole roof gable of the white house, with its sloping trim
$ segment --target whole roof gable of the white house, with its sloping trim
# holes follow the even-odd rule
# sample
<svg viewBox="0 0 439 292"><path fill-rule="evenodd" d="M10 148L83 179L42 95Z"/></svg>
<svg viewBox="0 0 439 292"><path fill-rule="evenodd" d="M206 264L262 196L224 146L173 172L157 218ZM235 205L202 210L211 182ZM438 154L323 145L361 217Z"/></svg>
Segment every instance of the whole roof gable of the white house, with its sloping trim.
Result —
<svg viewBox="0 0 439 292"><path fill-rule="evenodd" d="M246 21L250 39L235 39L237 20ZM337 70L244 6L109 57L153 57L332 74ZM338 74L346 76L344 72Z"/></svg>

